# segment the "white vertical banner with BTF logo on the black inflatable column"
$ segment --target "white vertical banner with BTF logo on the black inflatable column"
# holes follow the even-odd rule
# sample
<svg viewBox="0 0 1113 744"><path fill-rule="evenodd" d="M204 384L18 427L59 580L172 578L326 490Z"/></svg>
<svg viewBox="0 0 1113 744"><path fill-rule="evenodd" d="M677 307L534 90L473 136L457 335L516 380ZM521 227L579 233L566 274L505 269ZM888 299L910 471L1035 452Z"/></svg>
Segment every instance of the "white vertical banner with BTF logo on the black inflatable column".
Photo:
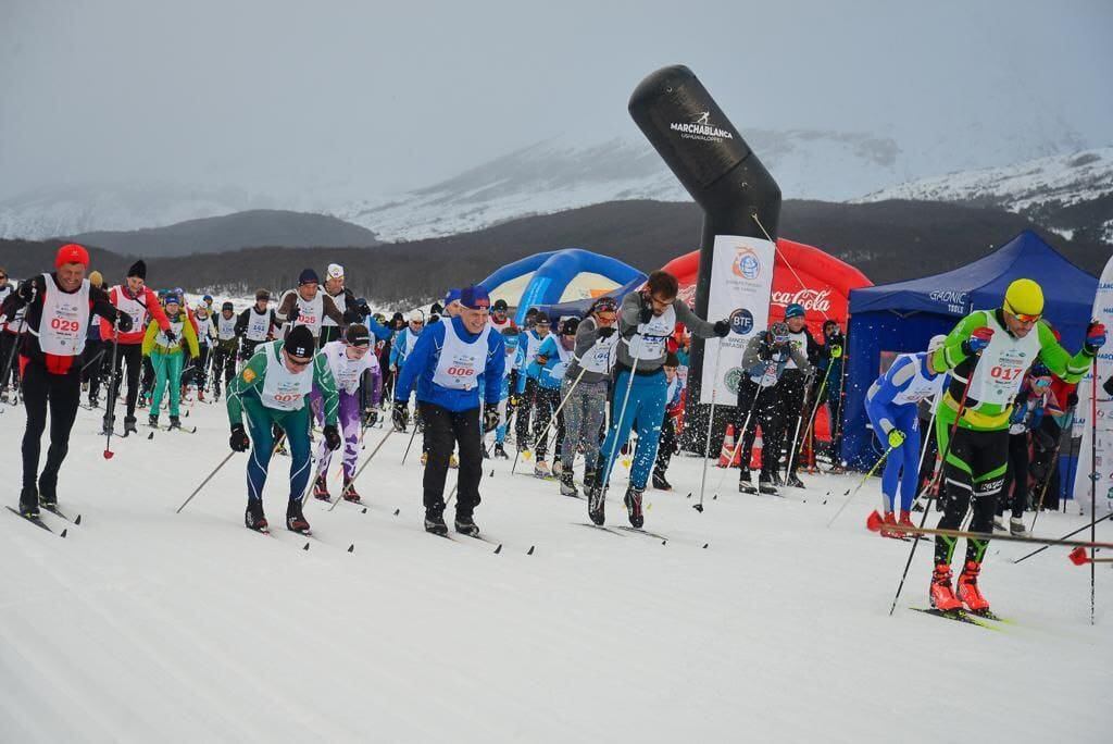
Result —
<svg viewBox="0 0 1113 744"><path fill-rule="evenodd" d="M742 375L742 350L755 333L769 324L772 265L777 247L769 241L740 235L716 235L711 247L711 291L707 319L730 319L730 335L713 339L703 347L700 403L733 405ZM718 346L718 347L717 347ZM716 354L719 363L716 364ZM719 379L712 380L715 368Z"/></svg>

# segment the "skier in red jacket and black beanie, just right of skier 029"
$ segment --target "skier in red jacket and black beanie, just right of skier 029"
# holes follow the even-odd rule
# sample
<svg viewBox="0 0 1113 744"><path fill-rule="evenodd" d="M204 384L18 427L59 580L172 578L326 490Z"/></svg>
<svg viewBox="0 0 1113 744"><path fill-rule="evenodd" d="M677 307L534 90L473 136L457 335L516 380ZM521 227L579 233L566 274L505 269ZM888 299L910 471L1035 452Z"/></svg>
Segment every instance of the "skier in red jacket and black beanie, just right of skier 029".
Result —
<svg viewBox="0 0 1113 744"><path fill-rule="evenodd" d="M109 386L108 404L105 409L105 432L111 431L116 422L116 398L119 395L120 383L122 381L124 364L128 365L128 393L127 409L124 417L124 433L136 431L136 403L139 400L139 379L144 370L142 339L147 332L147 326L154 319L158 327L170 330L170 321L162 312L162 306L147 283L147 264L137 261L128 268L124 284L114 286L108 291L108 296L112 304L130 319L130 331L120 333L119 339L112 336L111 323L100 322L100 337L106 343L116 341L116 368L112 370L112 382ZM174 342L175 339L167 339Z"/></svg>

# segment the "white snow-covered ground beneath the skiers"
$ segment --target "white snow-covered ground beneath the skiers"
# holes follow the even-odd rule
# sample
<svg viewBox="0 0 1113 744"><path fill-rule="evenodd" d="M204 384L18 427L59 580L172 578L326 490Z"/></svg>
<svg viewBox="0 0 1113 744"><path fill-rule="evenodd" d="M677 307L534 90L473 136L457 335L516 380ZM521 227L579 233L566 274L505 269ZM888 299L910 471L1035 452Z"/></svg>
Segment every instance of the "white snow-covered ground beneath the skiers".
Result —
<svg viewBox="0 0 1113 744"><path fill-rule="evenodd" d="M994 632L908 609L926 606L922 544L889 617L909 544L865 530L876 482L827 528L856 476L776 498L731 472L712 498L712 469L699 513L700 460L678 458L676 490L648 493L667 545L580 526L583 501L489 461L476 520L496 555L422 531L402 434L358 481L366 512L311 499L314 538L264 536L243 527L244 454L175 513L228 452L223 407L189 411L197 433L141 427L111 460L79 411L59 501L82 521L45 515L66 539L0 510L0 741L1110 741L1113 571L1092 627L1065 549L1013 565L1026 546L991 546L982 586L1014 620ZM22 427L6 407L12 505ZM614 497L608 517L626 523Z"/></svg>

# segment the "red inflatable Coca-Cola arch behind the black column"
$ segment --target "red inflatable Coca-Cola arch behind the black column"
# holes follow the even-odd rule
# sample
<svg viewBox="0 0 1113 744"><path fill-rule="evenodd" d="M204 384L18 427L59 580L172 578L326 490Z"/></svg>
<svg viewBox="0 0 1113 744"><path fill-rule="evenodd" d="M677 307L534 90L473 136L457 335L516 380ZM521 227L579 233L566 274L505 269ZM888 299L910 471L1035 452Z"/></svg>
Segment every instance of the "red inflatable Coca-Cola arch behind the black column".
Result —
<svg viewBox="0 0 1113 744"><path fill-rule="evenodd" d="M699 251L673 258L663 268L679 280L680 297L695 304ZM845 331L850 290L873 284L854 266L815 246L778 238L769 321L784 320L785 307L798 303L804 305L808 327L817 337L827 319L838 321Z"/></svg>

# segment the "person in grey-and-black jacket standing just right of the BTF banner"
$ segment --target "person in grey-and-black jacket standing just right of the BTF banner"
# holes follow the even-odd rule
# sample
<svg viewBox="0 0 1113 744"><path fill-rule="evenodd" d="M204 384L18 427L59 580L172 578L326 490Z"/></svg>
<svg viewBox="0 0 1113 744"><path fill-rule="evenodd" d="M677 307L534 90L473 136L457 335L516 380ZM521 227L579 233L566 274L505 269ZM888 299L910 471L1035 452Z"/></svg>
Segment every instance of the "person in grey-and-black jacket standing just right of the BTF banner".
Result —
<svg viewBox="0 0 1113 744"><path fill-rule="evenodd" d="M738 473L738 490L741 493L777 495L775 479L785 427L781 422L784 410L777 388L789 362L796 369L810 372L808 359L800 346L791 343L788 324L777 322L764 333L750 339L742 351L742 378L738 384L738 402L735 428L741 438L741 470ZM750 479L750 459L758 427L761 427L761 470L758 488Z"/></svg>

